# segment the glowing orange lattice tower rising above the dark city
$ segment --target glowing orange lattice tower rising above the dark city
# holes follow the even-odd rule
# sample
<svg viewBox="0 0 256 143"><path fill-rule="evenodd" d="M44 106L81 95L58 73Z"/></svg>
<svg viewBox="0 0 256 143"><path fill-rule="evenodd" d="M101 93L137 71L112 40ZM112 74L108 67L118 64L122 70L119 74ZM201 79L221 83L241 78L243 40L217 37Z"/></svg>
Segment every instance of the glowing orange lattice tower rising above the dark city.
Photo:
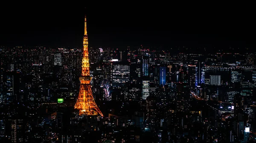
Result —
<svg viewBox="0 0 256 143"><path fill-rule="evenodd" d="M86 16L84 19L84 41L83 41L83 59L82 59L82 74L80 80L80 90L78 99L75 104L75 109L79 109L79 115L101 115L102 112L97 107L91 90L91 77L89 70L89 57L88 57L88 36L86 29Z"/></svg>

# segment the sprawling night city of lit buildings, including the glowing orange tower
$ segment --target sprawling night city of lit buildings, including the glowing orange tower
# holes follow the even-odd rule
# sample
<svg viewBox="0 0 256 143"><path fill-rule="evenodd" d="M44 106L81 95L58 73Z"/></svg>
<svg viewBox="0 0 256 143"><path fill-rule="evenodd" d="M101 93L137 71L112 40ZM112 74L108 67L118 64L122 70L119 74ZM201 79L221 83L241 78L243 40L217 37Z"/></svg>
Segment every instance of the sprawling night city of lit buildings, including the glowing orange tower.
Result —
<svg viewBox="0 0 256 143"><path fill-rule="evenodd" d="M0 47L1 143L256 142L252 49L88 39Z"/></svg>

